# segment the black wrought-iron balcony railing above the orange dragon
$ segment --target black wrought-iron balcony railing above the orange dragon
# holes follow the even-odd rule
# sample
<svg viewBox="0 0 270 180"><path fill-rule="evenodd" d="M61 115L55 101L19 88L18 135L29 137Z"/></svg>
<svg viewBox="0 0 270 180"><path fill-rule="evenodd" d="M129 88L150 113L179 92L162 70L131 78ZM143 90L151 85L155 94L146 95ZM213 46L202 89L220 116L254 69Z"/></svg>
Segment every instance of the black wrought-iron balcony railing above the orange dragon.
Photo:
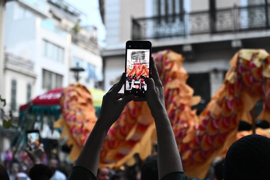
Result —
<svg viewBox="0 0 270 180"><path fill-rule="evenodd" d="M133 40L269 29L268 5L218 9L132 20Z"/></svg>

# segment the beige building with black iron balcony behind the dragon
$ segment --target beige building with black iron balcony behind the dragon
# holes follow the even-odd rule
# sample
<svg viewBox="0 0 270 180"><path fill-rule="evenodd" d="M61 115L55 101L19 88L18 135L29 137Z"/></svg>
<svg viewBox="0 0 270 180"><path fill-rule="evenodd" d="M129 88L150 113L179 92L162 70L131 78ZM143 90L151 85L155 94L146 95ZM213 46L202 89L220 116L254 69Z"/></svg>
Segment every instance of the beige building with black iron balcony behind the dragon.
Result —
<svg viewBox="0 0 270 180"><path fill-rule="evenodd" d="M229 61L240 48L270 46L268 0L102 0L107 30L104 86L124 71L125 42L150 40L152 52L183 54L187 83L200 95L201 112L222 84ZM203 83L202 83L203 82Z"/></svg>

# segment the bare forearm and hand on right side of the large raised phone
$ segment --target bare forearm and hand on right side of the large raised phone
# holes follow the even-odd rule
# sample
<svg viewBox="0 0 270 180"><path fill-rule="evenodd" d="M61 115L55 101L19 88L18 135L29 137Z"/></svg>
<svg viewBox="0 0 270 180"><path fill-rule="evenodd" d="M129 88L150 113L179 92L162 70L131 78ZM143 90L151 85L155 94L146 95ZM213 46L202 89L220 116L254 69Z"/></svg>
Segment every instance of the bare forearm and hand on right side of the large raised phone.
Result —
<svg viewBox="0 0 270 180"><path fill-rule="evenodd" d="M165 108L164 88L154 59L151 58L150 61L152 78L145 80L147 85L146 101L156 124L158 175L159 178L162 178L169 173L183 171L183 167L172 125ZM141 98L135 98L134 101L141 101Z"/></svg>

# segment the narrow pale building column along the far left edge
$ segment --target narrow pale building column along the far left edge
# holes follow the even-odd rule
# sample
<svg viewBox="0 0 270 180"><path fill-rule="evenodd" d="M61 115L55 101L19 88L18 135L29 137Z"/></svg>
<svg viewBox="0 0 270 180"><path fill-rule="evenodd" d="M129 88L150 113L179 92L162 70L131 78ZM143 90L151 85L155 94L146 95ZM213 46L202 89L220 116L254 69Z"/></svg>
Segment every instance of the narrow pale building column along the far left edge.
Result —
<svg viewBox="0 0 270 180"><path fill-rule="evenodd" d="M4 97L5 0L0 0L0 95Z"/></svg>

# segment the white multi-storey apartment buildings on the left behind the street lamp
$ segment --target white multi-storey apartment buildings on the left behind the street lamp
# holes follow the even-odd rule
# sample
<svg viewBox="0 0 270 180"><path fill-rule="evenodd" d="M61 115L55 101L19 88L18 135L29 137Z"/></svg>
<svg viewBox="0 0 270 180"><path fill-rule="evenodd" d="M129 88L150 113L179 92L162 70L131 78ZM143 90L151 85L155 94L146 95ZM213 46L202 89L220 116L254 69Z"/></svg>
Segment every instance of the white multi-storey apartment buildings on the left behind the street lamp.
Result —
<svg viewBox="0 0 270 180"><path fill-rule="evenodd" d="M80 82L94 88L102 81L97 29L82 27L83 12L63 0L10 0L5 14L3 97L18 107L48 90L74 83L71 67L83 67ZM24 63L24 64L23 64ZM30 68L30 69L29 69ZM26 73L23 73L26 72ZM27 77L26 77L27 76Z"/></svg>

